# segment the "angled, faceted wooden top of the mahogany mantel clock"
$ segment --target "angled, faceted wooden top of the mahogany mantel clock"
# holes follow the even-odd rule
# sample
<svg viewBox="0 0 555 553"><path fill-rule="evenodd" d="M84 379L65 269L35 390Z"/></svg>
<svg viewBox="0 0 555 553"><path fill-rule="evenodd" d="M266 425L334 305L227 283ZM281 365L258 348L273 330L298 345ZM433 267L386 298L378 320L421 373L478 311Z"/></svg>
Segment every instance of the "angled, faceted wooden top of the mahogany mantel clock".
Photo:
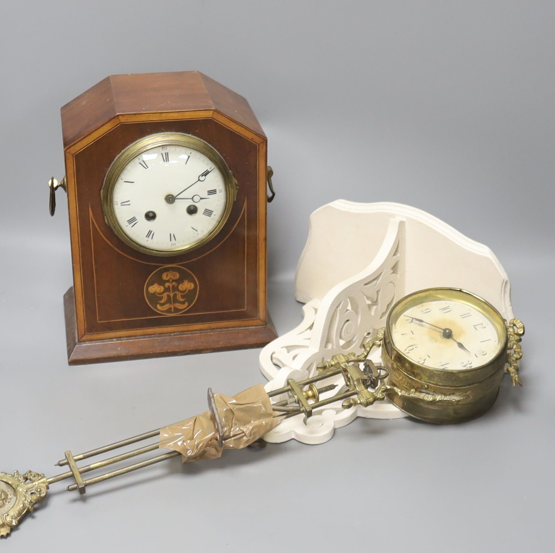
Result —
<svg viewBox="0 0 555 553"><path fill-rule="evenodd" d="M112 75L62 107L64 148L118 115L214 110L265 138L245 98L198 71Z"/></svg>

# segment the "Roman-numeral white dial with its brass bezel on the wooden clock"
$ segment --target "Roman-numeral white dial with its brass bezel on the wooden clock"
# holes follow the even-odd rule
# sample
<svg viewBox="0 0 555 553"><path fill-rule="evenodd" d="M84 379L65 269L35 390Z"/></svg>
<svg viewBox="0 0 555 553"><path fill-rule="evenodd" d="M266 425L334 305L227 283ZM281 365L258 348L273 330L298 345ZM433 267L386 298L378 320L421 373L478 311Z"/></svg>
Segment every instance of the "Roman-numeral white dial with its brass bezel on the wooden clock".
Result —
<svg viewBox="0 0 555 553"><path fill-rule="evenodd" d="M159 133L114 160L102 199L108 224L130 247L177 255L214 238L235 195L233 175L208 143Z"/></svg>

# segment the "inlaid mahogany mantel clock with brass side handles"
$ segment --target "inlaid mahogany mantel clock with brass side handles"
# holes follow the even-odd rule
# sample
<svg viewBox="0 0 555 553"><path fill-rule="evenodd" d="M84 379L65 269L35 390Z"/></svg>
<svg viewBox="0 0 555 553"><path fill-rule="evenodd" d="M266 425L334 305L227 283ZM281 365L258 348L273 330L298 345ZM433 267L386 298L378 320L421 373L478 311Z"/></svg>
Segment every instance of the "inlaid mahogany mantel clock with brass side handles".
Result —
<svg viewBox="0 0 555 553"><path fill-rule="evenodd" d="M117 75L62 108L69 364L261 346L266 137L198 72Z"/></svg>

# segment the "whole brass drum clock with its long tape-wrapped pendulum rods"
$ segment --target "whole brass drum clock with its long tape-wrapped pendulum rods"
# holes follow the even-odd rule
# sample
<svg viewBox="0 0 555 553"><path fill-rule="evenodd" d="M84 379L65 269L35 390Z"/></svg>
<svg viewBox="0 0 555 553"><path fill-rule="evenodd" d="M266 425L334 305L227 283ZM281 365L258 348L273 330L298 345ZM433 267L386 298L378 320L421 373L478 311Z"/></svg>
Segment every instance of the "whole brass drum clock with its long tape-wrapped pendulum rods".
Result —
<svg viewBox="0 0 555 553"><path fill-rule="evenodd" d="M37 472L0 472L0 536L8 535L27 512L47 495L49 486L71 479L68 491L87 487L181 455L195 461L219 457L224 449L265 445L264 434L285 419L305 419L322 409L366 407L386 398L413 418L430 423L459 423L483 414L497 397L507 372L515 386L522 357L524 326L508 323L487 301L467 291L432 288L398 301L385 328L373 330L362 353L335 355L317 366L317 374L266 393L253 386L233 398L208 390L208 411L162 429L73 455L52 477ZM369 359L382 348L382 365ZM78 466L77 462L144 440L149 445ZM142 461L103 474L85 474L159 449Z"/></svg>

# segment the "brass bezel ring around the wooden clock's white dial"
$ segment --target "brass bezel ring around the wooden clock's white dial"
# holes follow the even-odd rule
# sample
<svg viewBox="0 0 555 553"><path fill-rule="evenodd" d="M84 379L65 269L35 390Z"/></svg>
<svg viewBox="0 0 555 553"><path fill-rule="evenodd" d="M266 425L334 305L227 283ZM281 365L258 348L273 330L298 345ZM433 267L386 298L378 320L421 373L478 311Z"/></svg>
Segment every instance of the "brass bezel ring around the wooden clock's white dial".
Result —
<svg viewBox="0 0 555 553"><path fill-rule="evenodd" d="M150 149L158 148L161 146L183 146L184 148L189 148L204 154L214 165L219 169L220 173L224 178L224 186L226 190L226 200L225 208L220 217L218 224L214 229L207 234L205 237L196 240L184 247L174 248L171 250L159 250L155 248L148 248L143 244L135 242L132 238L128 236L119 224L117 218L115 217L114 208L112 205L112 198L114 193L114 185L117 183L119 175L122 173L123 169L127 164L137 157L138 155L147 152ZM137 250L149 255L157 255L159 257L170 257L175 255L180 255L185 252L191 252L202 245L210 242L211 239L215 237L216 234L220 232L224 224L229 218L231 213L231 208L237 197L237 181L235 177L229 170L228 165L225 163L223 157L221 157L218 150L214 149L208 142L194 137L190 134L184 133L157 133L151 134L148 137L140 138L130 144L125 148L112 162L112 165L108 168L106 177L104 179L104 184L102 190L100 190L100 198L102 200L102 210L104 212L104 217L109 227L114 231L117 237L127 244L130 248Z"/></svg>

